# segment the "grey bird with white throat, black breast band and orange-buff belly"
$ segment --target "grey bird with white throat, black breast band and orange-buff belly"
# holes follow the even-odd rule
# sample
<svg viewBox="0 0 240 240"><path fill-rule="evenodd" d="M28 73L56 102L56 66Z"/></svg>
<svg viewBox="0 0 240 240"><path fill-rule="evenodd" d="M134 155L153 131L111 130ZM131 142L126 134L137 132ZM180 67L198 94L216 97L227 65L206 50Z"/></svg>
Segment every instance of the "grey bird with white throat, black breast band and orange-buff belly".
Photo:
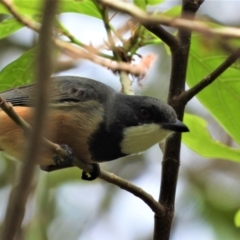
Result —
<svg viewBox="0 0 240 240"><path fill-rule="evenodd" d="M145 152L174 132L188 132L174 109L163 101L126 95L110 86L77 76L52 77L46 138L68 146L82 161L100 163ZM30 84L0 93L28 123L32 122L36 85ZM22 159L27 138L0 110L0 151ZM39 164L56 166L48 149Z"/></svg>

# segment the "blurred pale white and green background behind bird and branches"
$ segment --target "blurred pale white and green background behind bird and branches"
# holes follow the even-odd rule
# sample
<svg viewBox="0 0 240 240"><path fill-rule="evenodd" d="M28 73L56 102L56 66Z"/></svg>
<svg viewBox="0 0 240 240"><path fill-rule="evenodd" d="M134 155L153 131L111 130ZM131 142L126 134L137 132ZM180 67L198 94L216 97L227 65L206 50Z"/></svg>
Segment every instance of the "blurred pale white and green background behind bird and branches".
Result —
<svg viewBox="0 0 240 240"><path fill-rule="evenodd" d="M240 1L206 1L198 15L238 26ZM165 11L179 4L169 0L160 7ZM219 14L221 13L221 14ZM61 14L65 27L85 44L99 46L107 40L102 22L84 15ZM121 26L128 19L120 15L113 23ZM0 41L0 70L31 49L37 35L26 28ZM133 78L136 94L166 101L170 75L170 56L163 45L147 46L139 54L157 54L157 61L139 84ZM138 61L136 57L136 61ZM61 58L55 75L89 77L119 91L117 75L85 60ZM1 84L1 83L0 83ZM209 115L197 99L191 100L187 112L202 116L215 139L225 144L232 140ZM202 146L204 147L204 146ZM16 178L19 163L1 156L0 222ZM162 153L158 146L139 156L101 164L101 167L133 182L158 199ZM28 202L22 239L34 240L148 240L152 239L153 212L140 199L102 180L84 182L79 169L52 173L37 171ZM172 240L238 240L240 230L234 215L240 208L240 165L231 161L203 159L186 146L181 150L181 166L176 196Z"/></svg>

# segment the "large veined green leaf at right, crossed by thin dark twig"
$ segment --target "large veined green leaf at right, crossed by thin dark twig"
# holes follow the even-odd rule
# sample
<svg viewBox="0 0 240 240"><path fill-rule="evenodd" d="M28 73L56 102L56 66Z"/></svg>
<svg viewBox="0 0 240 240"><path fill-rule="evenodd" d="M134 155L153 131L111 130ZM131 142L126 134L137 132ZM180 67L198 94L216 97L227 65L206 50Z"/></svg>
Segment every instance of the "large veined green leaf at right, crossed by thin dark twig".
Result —
<svg viewBox="0 0 240 240"><path fill-rule="evenodd" d="M209 47L198 35L192 37L188 61L187 84L197 84L209 75L228 56L215 47ZM240 143L240 72L228 68L197 98L209 110L230 136Z"/></svg>

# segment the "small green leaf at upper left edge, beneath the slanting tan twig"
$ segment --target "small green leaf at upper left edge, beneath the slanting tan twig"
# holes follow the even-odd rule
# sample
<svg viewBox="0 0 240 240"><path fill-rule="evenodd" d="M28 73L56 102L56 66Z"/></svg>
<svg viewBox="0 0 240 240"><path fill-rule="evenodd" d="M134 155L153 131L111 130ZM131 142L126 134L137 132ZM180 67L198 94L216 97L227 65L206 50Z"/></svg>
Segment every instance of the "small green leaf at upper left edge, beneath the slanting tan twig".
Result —
<svg viewBox="0 0 240 240"><path fill-rule="evenodd" d="M12 33L21 29L23 25L15 18L8 18L0 22L0 39L8 37Z"/></svg>

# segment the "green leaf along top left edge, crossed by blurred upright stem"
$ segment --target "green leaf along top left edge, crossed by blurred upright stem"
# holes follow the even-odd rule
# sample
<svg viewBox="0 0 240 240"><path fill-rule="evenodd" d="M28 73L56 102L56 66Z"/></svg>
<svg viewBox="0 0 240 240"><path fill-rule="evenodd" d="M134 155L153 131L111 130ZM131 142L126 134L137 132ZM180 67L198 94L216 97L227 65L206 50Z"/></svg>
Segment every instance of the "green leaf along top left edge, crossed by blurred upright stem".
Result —
<svg viewBox="0 0 240 240"><path fill-rule="evenodd" d="M21 14L35 16L41 15L43 3L44 1L42 0L13 0L12 4ZM64 12L75 12L101 18L101 14L92 0L61 0L59 2L58 13ZM9 11L1 3L0 13L9 13Z"/></svg>

